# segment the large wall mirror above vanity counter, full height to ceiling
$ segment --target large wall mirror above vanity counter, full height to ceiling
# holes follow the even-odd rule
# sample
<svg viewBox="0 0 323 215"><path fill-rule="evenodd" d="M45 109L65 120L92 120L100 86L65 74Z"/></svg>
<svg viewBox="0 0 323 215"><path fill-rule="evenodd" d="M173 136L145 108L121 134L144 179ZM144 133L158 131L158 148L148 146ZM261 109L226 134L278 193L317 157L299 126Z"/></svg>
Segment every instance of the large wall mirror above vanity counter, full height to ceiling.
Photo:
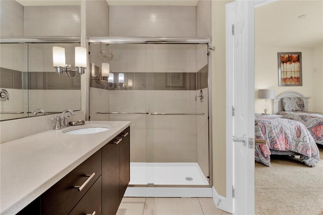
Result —
<svg viewBox="0 0 323 215"><path fill-rule="evenodd" d="M81 1L0 1L0 121L81 110L81 78L55 72L52 47L74 64ZM42 114L37 114L39 116Z"/></svg>

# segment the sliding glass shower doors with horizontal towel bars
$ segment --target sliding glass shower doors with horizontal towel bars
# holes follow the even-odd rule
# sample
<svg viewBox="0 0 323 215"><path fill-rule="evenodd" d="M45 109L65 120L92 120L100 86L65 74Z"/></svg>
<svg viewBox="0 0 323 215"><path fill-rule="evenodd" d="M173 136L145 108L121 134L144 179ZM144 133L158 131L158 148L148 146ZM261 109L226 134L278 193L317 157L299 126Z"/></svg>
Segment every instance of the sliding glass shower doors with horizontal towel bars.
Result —
<svg viewBox="0 0 323 215"><path fill-rule="evenodd" d="M110 63L109 79L91 79L91 120L132 122L131 185L208 185L207 51L206 44L90 44L92 77Z"/></svg>

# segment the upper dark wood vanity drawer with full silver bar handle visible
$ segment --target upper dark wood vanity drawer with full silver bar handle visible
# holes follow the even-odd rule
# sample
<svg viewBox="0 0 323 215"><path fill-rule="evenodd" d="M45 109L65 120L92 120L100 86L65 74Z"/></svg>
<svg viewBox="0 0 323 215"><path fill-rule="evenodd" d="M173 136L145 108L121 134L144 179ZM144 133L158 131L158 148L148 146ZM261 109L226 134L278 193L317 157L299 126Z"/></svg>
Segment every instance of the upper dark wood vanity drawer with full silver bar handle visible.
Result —
<svg viewBox="0 0 323 215"><path fill-rule="evenodd" d="M68 214L100 175L101 150L98 150L43 193L42 214Z"/></svg>

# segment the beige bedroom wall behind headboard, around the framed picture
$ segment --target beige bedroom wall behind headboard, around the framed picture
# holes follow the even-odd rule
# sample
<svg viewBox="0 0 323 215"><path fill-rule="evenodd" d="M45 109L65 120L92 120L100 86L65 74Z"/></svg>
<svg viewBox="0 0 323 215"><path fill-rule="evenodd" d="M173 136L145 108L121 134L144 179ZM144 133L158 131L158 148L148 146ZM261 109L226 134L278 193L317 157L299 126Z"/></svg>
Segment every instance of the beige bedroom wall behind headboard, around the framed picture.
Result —
<svg viewBox="0 0 323 215"><path fill-rule="evenodd" d="M257 35L257 34L256 34ZM256 37L256 40L259 39ZM257 44L257 43L256 43ZM278 86L278 52L302 52L303 86ZM320 60L319 60L320 59ZM323 112L322 107L322 47L268 47L255 46L255 113L263 113L264 99L258 99L258 89L275 89L278 96L286 91L297 91L311 97L309 111ZM273 114L273 100L268 102L268 113Z"/></svg>

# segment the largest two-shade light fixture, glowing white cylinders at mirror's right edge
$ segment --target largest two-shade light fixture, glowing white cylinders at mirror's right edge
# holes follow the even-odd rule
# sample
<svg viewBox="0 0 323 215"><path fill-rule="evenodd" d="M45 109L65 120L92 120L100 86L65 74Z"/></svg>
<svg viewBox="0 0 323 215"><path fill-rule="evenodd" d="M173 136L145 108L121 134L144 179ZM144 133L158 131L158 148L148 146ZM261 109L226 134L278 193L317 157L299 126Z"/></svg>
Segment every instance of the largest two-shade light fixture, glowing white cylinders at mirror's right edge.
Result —
<svg viewBox="0 0 323 215"><path fill-rule="evenodd" d="M87 64L87 50L84 47L75 47L75 66L65 63L65 48L52 47L52 62L55 71L61 75L66 72L69 77L74 77L75 73L80 75L85 73Z"/></svg>

